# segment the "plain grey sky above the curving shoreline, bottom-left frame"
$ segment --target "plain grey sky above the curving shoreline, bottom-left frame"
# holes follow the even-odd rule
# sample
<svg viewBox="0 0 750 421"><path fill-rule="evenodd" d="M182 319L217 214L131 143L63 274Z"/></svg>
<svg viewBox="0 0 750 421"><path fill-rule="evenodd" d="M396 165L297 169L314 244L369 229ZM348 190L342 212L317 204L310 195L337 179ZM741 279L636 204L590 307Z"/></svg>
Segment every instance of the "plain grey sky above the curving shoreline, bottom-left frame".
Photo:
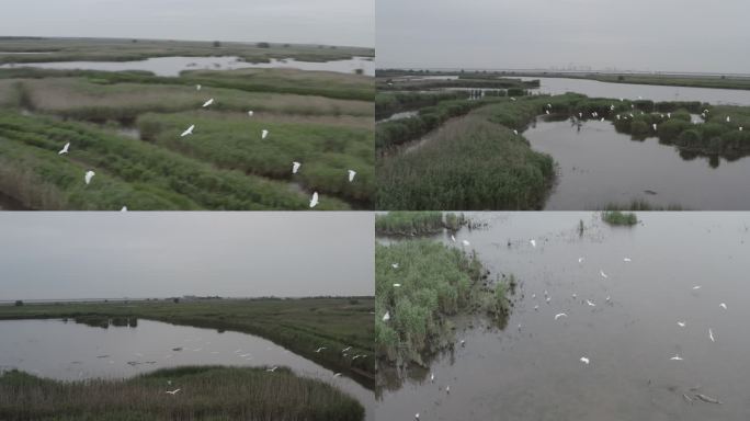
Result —
<svg viewBox="0 0 750 421"><path fill-rule="evenodd" d="M4 212L0 232L0 300L375 288L367 212Z"/></svg>

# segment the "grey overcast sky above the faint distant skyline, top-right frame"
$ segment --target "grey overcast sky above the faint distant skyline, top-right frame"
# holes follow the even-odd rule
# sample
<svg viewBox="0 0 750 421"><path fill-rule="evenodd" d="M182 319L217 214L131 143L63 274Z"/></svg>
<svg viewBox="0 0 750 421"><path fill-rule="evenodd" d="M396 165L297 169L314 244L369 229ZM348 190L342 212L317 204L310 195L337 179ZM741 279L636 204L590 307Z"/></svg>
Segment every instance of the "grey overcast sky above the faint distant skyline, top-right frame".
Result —
<svg viewBox="0 0 750 421"><path fill-rule="evenodd" d="M377 67L750 73L750 1L377 0Z"/></svg>

